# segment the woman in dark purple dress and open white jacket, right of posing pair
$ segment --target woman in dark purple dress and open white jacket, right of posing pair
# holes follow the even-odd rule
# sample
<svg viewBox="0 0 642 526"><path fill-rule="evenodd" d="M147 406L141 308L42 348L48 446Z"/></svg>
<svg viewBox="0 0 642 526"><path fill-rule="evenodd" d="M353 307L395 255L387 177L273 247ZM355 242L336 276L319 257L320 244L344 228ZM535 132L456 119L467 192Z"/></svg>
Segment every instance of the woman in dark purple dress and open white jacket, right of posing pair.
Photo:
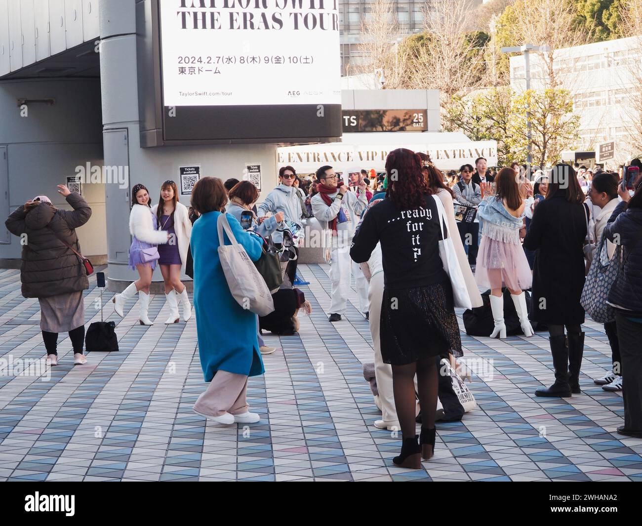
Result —
<svg viewBox="0 0 642 526"><path fill-rule="evenodd" d="M178 202L178 188L174 181L167 180L160 188L159 205L152 208L156 215L159 230L169 234L168 243L159 245L160 274L165 282L165 298L169 304L169 317L166 324L178 322L178 301L183 310L183 320L192 316L192 306L189 304L187 289L180 282L180 273L187 263L187 247L192 224L189 220L187 207Z"/></svg>

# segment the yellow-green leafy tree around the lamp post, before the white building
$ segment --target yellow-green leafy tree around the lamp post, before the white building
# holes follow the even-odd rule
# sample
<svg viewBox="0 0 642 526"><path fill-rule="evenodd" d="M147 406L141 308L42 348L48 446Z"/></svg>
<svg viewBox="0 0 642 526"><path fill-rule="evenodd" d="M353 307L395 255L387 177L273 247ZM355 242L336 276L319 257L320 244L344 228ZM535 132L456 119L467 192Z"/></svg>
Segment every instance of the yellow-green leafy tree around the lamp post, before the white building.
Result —
<svg viewBox="0 0 642 526"><path fill-rule="evenodd" d="M580 117L573 113L573 98L566 89L525 91L513 100L513 146L518 157L528 150L527 114L530 113L533 164L545 166L560 159L562 150L577 141Z"/></svg>

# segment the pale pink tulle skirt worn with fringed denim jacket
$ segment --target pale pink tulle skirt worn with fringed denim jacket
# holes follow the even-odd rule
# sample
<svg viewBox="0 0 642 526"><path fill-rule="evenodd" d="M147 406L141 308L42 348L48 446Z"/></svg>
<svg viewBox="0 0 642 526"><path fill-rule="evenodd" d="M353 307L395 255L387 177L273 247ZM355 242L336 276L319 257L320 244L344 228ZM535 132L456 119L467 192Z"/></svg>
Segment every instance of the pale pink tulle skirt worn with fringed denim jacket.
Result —
<svg viewBox="0 0 642 526"><path fill-rule="evenodd" d="M504 243L483 236L477 254L475 281L483 288L528 290L533 284L533 275L521 243Z"/></svg>

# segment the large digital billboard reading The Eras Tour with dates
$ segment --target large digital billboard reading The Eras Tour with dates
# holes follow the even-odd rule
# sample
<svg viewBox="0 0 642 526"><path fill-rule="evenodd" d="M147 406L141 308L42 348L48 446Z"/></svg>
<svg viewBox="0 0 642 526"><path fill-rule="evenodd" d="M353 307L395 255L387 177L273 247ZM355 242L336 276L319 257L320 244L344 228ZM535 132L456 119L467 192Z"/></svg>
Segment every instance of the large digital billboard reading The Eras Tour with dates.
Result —
<svg viewBox="0 0 642 526"><path fill-rule="evenodd" d="M158 0L165 141L339 137L338 0Z"/></svg>

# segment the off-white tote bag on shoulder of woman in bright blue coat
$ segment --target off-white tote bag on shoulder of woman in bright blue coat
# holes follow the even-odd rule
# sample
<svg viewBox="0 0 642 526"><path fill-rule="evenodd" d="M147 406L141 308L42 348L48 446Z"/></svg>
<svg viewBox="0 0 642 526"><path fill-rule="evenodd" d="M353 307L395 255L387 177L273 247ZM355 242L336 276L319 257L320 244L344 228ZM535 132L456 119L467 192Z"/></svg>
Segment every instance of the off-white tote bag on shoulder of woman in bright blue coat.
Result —
<svg viewBox="0 0 642 526"><path fill-rule="evenodd" d="M256 270L252 259L245 252L243 245L236 241L225 214L220 215L216 227L220 243L218 257L221 259L221 267L223 267L223 274L227 279L230 293L244 309L259 316L268 315L274 310L272 294L265 284L265 279ZM223 229L232 241L231 245L225 245Z"/></svg>

